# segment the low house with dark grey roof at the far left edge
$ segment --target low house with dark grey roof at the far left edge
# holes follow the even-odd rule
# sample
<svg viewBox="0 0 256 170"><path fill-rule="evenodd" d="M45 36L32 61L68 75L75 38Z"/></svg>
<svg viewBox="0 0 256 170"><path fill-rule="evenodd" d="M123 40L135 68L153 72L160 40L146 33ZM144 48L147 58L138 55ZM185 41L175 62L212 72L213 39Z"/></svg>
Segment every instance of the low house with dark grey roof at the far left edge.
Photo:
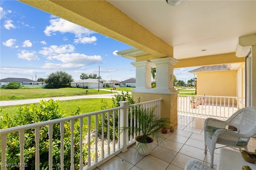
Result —
<svg viewBox="0 0 256 170"><path fill-rule="evenodd" d="M44 87L45 86L44 83L42 82L38 82L38 81L26 79L26 78L8 77L0 80L0 87L2 87L2 85L8 85L8 83L12 83L12 82L20 83L20 85L24 87Z"/></svg>

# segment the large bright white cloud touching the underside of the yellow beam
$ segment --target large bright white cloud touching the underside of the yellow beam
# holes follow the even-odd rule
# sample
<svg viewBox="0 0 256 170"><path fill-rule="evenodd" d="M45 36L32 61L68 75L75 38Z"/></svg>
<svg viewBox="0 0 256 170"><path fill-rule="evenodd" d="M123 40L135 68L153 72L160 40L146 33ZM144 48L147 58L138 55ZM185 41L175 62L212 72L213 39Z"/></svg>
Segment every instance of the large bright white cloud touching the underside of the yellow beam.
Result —
<svg viewBox="0 0 256 170"><path fill-rule="evenodd" d="M53 16L51 17L54 18ZM50 20L50 26L46 26L44 30L46 36L55 35L55 32L61 32L62 34L69 32L74 34L76 38L74 39L75 43L93 43L97 41L96 37L89 37L90 34L94 33L93 31L62 18L54 18Z"/></svg>

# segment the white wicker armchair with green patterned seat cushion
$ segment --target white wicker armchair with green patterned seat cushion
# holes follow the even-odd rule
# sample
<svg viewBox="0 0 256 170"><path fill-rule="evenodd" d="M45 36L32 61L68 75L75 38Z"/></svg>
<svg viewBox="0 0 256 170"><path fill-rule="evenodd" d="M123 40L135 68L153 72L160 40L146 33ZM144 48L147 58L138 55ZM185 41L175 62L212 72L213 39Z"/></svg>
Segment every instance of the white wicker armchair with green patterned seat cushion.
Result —
<svg viewBox="0 0 256 170"><path fill-rule="evenodd" d="M226 126L237 128L237 132L225 129ZM210 152L210 166L213 167L213 155L216 143L246 151L250 137L256 134L256 107L244 107L236 111L226 121L207 118L204 122L204 152Z"/></svg>

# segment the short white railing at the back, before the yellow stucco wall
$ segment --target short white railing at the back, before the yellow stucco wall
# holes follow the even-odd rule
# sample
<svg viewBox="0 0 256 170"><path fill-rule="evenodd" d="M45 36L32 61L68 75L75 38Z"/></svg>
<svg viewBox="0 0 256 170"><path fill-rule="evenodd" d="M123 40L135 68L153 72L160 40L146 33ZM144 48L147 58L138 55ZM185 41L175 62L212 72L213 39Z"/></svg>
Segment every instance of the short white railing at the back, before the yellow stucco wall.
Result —
<svg viewBox="0 0 256 170"><path fill-rule="evenodd" d="M196 97L196 107L190 104L190 99L193 97ZM228 119L234 112L244 107L244 104L242 97L178 95L178 113L183 115Z"/></svg>

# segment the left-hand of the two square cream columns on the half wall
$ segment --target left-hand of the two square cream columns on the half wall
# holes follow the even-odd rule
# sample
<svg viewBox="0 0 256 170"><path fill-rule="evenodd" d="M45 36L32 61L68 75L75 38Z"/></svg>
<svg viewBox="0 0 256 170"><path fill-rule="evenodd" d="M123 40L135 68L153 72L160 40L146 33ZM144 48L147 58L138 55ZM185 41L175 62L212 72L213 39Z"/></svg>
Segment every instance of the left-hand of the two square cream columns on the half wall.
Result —
<svg viewBox="0 0 256 170"><path fill-rule="evenodd" d="M136 89L150 89L151 67L154 67L154 64L150 61L138 61L131 64L136 67Z"/></svg>

